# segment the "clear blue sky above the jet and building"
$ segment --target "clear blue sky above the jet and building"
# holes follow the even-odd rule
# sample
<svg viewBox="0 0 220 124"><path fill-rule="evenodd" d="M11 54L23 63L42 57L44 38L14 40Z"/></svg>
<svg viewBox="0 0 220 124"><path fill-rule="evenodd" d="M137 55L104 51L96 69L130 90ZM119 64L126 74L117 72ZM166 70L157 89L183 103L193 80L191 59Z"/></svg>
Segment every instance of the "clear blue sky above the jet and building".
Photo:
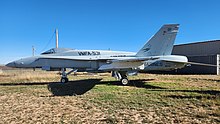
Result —
<svg viewBox="0 0 220 124"><path fill-rule="evenodd" d="M219 0L1 0L0 64L59 46L138 51L163 24L175 44L220 39ZM50 41L50 42L49 42ZM48 44L48 45L47 45Z"/></svg>

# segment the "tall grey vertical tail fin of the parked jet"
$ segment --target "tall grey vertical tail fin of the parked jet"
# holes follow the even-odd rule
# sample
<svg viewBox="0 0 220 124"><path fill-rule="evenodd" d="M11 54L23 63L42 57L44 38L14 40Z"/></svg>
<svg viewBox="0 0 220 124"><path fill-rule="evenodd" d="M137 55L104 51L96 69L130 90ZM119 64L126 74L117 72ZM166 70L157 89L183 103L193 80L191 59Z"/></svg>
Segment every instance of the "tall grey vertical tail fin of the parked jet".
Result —
<svg viewBox="0 0 220 124"><path fill-rule="evenodd" d="M163 25L136 56L171 55L179 24Z"/></svg>

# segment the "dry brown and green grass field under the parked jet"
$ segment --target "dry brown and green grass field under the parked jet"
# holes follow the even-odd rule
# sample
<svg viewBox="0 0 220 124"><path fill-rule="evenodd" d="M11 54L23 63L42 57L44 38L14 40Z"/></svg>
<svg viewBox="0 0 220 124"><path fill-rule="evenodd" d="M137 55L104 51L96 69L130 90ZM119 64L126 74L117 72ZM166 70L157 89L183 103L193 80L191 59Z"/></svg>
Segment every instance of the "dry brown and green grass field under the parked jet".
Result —
<svg viewBox="0 0 220 124"><path fill-rule="evenodd" d="M92 80L90 80L92 79ZM0 123L220 123L220 76L0 74ZM48 90L49 89L49 90Z"/></svg>

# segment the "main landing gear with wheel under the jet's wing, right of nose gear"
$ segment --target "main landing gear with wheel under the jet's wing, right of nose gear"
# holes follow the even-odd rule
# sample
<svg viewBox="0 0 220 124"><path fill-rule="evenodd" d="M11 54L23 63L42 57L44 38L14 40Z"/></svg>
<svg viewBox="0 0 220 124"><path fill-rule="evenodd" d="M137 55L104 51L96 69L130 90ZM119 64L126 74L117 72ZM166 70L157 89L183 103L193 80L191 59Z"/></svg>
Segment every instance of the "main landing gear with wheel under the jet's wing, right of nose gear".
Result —
<svg viewBox="0 0 220 124"><path fill-rule="evenodd" d="M112 76L115 77L116 79L120 80L120 82L124 86L126 86L130 83L125 71L113 71Z"/></svg>

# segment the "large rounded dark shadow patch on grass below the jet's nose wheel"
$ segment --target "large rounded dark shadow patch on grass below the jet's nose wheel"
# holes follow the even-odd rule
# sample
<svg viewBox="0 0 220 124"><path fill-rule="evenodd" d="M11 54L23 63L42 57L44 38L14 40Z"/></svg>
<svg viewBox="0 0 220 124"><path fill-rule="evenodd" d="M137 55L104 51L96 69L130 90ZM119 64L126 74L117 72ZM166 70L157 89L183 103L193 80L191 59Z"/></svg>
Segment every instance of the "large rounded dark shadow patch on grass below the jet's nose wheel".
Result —
<svg viewBox="0 0 220 124"><path fill-rule="evenodd" d="M86 79L69 81L65 84L60 82L49 83L47 88L54 96L82 95L91 90L101 80L102 79Z"/></svg>

